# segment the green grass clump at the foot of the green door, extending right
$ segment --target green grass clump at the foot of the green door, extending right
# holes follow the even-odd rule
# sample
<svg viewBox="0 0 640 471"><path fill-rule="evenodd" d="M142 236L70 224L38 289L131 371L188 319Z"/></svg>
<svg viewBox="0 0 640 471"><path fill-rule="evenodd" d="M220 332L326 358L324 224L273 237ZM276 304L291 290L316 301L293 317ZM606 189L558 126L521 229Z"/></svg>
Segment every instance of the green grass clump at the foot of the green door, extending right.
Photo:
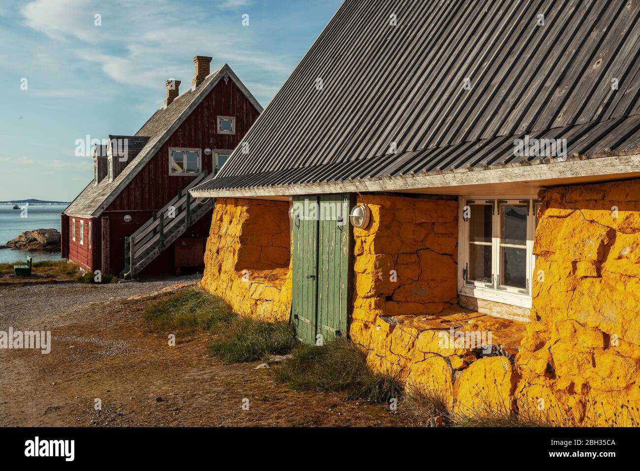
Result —
<svg viewBox="0 0 640 471"><path fill-rule="evenodd" d="M318 347L298 345L292 358L273 371L294 390L344 392L349 399L388 404L403 392L396 377L372 372L364 352L347 340Z"/></svg>

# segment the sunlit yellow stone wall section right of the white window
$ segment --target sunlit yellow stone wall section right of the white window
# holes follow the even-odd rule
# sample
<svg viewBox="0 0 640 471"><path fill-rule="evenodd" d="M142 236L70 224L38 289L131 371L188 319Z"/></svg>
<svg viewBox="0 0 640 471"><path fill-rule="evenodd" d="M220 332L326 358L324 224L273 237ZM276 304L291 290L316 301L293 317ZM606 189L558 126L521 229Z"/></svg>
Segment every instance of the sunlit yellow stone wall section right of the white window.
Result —
<svg viewBox="0 0 640 471"><path fill-rule="evenodd" d="M540 197L534 320L516 357L518 407L586 425L637 426L640 181Z"/></svg>

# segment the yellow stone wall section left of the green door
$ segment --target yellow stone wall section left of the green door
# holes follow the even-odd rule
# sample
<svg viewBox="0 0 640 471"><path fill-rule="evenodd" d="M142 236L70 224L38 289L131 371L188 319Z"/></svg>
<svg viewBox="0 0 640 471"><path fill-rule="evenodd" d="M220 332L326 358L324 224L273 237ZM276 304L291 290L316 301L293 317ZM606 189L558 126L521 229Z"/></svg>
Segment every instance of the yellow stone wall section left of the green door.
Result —
<svg viewBox="0 0 640 471"><path fill-rule="evenodd" d="M241 315L287 320L291 308L289 204L219 198L200 286Z"/></svg>

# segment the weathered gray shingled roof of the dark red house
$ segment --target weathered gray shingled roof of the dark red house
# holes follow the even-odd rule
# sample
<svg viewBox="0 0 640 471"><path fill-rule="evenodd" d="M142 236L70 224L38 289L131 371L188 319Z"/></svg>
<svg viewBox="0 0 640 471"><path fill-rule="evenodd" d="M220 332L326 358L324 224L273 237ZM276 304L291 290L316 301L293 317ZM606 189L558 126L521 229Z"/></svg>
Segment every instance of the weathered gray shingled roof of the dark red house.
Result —
<svg viewBox="0 0 640 471"><path fill-rule="evenodd" d="M130 147L130 152L137 151L137 156L113 181L109 182L108 178L104 178L98 185L93 185L92 180L67 207L64 213L84 217L99 216L117 195L126 188L129 181L143 169L156 154L157 150L162 147L186 117L200 104L209 91L225 76L228 76L236 83L257 110L262 111L260 103L244 87L244 84L233 70L227 64L221 66L211 72L195 90L189 88L189 90L174 99L169 106L157 110L135 136L109 136L109 138L129 138L129 145L133 146ZM136 139L136 137L138 138Z"/></svg>

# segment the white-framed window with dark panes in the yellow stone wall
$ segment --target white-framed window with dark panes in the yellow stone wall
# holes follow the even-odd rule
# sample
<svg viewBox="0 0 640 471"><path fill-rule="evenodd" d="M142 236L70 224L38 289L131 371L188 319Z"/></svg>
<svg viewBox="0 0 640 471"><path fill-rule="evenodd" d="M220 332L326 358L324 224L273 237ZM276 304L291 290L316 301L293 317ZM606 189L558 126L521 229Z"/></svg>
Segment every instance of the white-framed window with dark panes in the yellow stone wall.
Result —
<svg viewBox="0 0 640 471"><path fill-rule="evenodd" d="M531 196L461 199L458 292L531 308L539 207Z"/></svg>

